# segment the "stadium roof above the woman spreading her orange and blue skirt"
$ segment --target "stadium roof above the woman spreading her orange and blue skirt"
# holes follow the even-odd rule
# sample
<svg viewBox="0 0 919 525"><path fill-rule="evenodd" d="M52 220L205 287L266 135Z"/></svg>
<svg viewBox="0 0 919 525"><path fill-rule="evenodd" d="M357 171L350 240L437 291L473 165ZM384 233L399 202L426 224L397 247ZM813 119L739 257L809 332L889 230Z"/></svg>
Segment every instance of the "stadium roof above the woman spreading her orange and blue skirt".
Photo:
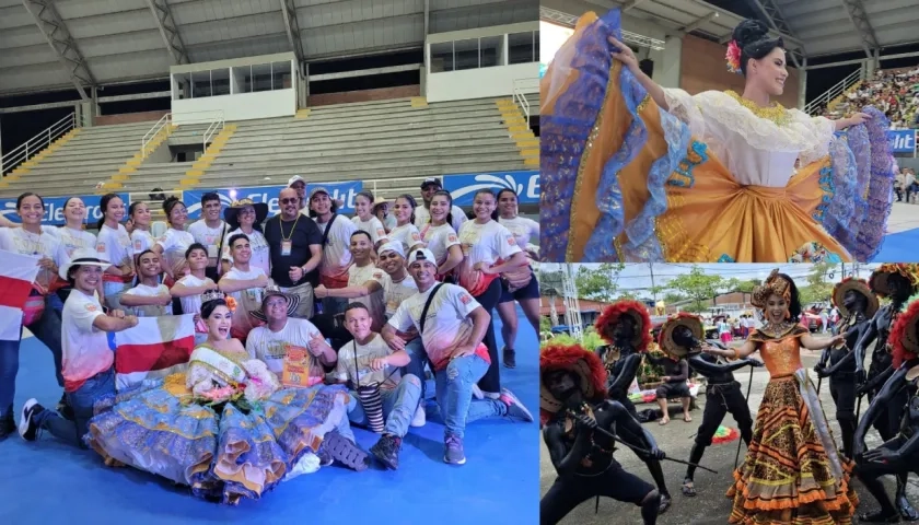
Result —
<svg viewBox="0 0 919 525"><path fill-rule="evenodd" d="M793 60L919 43L915 0L543 0L540 16L573 25L586 11L620 8L675 34L695 33L726 43L734 26L755 15L784 37ZM571 19L563 20L560 14Z"/></svg>

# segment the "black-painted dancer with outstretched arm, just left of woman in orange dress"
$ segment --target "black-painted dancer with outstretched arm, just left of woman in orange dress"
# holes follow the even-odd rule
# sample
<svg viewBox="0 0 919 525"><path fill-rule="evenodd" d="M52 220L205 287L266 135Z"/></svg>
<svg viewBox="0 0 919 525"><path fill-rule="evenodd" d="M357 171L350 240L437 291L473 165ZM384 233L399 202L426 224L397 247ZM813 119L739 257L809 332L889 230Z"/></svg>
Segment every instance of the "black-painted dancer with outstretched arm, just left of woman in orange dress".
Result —
<svg viewBox="0 0 919 525"><path fill-rule="evenodd" d="M753 417L749 413L747 400L741 392L741 384L734 381L733 372L745 366L763 366L763 362L752 358L725 363L716 355L701 353L706 346L702 342L703 337L705 328L699 317L678 314L664 323L659 338L663 351L679 358L688 355L689 366L708 380L702 424L699 425L696 443L689 453L689 463L693 464L698 464L702 459L702 454L711 445L711 440L728 412L734 417L741 436L749 445L749 440L753 438ZM695 476L696 467L693 465L686 467L686 476L683 479L684 495L696 495Z"/></svg>

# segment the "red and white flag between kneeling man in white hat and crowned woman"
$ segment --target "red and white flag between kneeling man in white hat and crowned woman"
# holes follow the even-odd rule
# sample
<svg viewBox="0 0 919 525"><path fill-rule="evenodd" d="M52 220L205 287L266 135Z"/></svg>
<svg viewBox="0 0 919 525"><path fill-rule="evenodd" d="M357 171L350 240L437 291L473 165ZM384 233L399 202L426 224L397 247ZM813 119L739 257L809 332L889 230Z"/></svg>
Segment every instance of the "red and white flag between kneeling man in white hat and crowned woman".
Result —
<svg viewBox="0 0 919 525"><path fill-rule="evenodd" d="M137 326L115 334L115 386L184 372L195 350L195 315L140 317Z"/></svg>

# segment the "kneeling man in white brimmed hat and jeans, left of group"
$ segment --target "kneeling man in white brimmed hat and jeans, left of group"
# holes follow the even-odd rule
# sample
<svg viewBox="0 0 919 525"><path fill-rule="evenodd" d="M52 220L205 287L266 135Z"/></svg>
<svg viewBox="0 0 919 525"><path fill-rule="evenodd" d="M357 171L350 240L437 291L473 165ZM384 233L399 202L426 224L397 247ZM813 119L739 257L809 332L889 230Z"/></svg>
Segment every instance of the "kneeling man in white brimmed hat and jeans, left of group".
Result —
<svg viewBox="0 0 919 525"><path fill-rule="evenodd" d="M135 327L138 320L120 310L104 313L95 292L109 266L95 250L80 248L59 270L60 278L72 287L61 316L61 373L73 421L30 399L23 406L19 425L26 441L35 441L38 429L44 429L59 440L85 447L82 438L93 417L93 405L105 395L115 394L115 353L108 346L107 332Z"/></svg>

